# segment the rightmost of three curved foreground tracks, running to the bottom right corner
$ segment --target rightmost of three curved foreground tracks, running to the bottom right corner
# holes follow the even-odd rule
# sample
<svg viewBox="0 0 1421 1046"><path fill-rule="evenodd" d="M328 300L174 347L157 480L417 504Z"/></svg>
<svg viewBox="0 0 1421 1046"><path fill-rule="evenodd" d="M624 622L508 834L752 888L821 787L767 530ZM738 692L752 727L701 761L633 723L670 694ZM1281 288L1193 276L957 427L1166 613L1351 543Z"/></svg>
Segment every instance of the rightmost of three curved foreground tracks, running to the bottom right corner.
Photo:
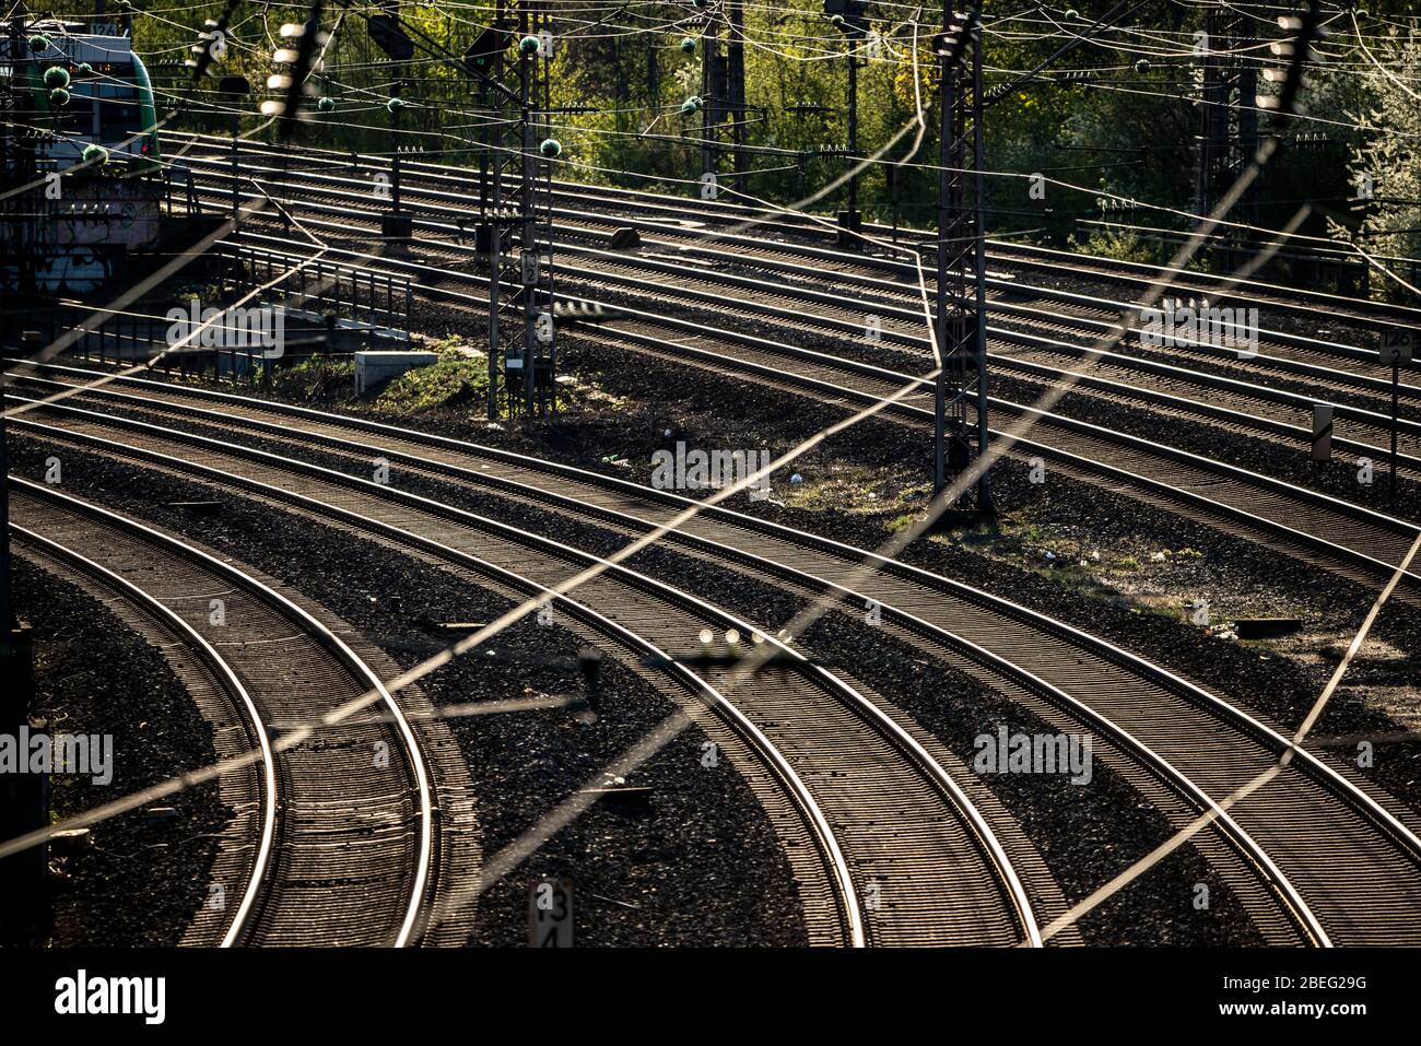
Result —
<svg viewBox="0 0 1421 1046"><path fill-rule="evenodd" d="M64 372L63 368L48 370ZM80 375L71 371L67 377ZM135 439L148 445L149 439L162 439L163 443L193 442L206 453L217 441L198 436L196 429L206 425L230 432L240 426L253 439L279 438L293 446L315 442L340 449L358 463L368 459L375 438L379 452L398 462L402 470L453 486L469 485L554 505L603 524L611 522L627 533L665 522L684 503L684 499L645 492L625 482L388 425L252 402L236 395L178 391L158 382L124 381L122 385L122 392L105 389L98 395L85 394L85 398L107 409L122 405L125 412L156 415L159 422L180 425L182 431L136 419L118 421L78 408L44 409L60 416L64 429L84 432L95 446L132 445ZM24 419L17 421L28 425ZM233 448L223 446L222 453L232 455ZM190 451L183 456L189 455ZM232 470L230 465L226 468ZM710 549L722 556L733 550L742 564L756 571L773 573L817 594L828 591L848 605L861 607L865 598L880 601L899 628L929 640L959 662L975 665L979 678L990 678L1013 699L1047 716L1070 719L1077 728L1084 723L1108 739L1124 753L1121 762L1134 763L1127 775L1131 783L1177 821L1211 809L1209 796L1228 794L1286 749L1286 740L1272 728L1167 672L1076 630L925 571L884 561L871 578L854 578L858 588L850 591L840 583L854 576L853 567L867 553L723 509L709 510L671 537L701 554ZM1026 662L1032 665L1030 672L1019 668ZM1221 729L1228 743L1221 743ZM1366 883L1377 871L1343 873L1344 883L1329 881L1339 875L1339 868L1319 868L1314 858L1320 848L1337 853L1341 846L1351 854L1347 861L1363 861L1366 858L1351 853L1351 847L1376 847L1376 853L1390 853L1397 861L1385 873L1393 881L1415 878L1415 836L1405 823L1414 824L1414 814L1394 816L1367 794L1363 784L1310 756L1303 756L1303 765L1306 772L1287 782L1287 792L1280 799L1282 813L1241 807L1235 812L1236 821L1225 819L1228 830L1222 837L1204 844L1211 863L1225 873L1233 866L1231 885L1275 942L1299 935L1314 942L1398 942L1394 929L1368 924L1361 915L1378 898L1368 895L1360 907L1353 905L1358 890L1368 893ZM1304 807L1312 807L1306 814L1309 824L1327 824L1326 830L1319 830L1322 834L1304 833L1306 839L1296 834ZM1366 847L1356 834L1361 826L1370 826ZM1238 867L1241 860L1242 868ZM1255 877L1263 874L1252 884L1243 875L1241 885L1236 873L1249 871L1249 864ZM1403 880L1395 878L1398 874Z"/></svg>

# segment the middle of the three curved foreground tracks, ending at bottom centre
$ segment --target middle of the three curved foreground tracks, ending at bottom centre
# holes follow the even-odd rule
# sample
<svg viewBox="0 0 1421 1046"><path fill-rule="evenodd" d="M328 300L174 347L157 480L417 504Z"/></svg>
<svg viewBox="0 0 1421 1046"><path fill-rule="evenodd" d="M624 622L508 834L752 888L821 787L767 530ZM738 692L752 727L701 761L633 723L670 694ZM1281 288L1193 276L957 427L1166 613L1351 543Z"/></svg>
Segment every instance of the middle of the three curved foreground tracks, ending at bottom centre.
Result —
<svg viewBox="0 0 1421 1046"><path fill-rule="evenodd" d="M21 418L13 424L30 428ZM129 433L115 443L95 439L98 429L98 419L85 419L64 431L34 431L151 468L199 475L203 483L496 578L615 637L638 664L665 664L686 696L720 716L739 738L740 750L759 763L747 777L777 829L793 840L787 856L813 942L1040 942L1032 897L993 829L944 769L939 757L948 756L941 746L931 739L924 743L773 635L621 567L580 587L577 600L554 597L554 584L595 557L392 487L236 446L199 449L176 432ZM175 439L183 445L178 448ZM171 453L175 449L180 455ZM736 682L733 667L692 674L681 664L706 630L757 637L777 648L790 668L753 675L722 695ZM743 759L737 763L745 765ZM772 780L774 787L769 787ZM891 900L867 910L865 891Z"/></svg>

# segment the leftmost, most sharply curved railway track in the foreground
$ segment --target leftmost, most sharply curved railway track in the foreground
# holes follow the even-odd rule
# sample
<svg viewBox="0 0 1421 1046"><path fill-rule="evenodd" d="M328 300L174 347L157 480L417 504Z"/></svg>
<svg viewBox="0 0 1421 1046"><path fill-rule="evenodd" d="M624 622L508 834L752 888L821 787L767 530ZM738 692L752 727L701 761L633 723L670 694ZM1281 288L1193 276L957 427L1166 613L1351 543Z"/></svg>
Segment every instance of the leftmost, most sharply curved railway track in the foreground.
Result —
<svg viewBox="0 0 1421 1046"><path fill-rule="evenodd" d="M243 885L222 944L412 944L431 891L433 790L399 703L364 661L271 586L134 519L23 479L11 479L10 510L21 541L142 603L200 651L250 716L260 829L246 875L229 867ZM371 688L388 723L367 711L273 750L269 733ZM388 769L374 766L377 745Z"/></svg>

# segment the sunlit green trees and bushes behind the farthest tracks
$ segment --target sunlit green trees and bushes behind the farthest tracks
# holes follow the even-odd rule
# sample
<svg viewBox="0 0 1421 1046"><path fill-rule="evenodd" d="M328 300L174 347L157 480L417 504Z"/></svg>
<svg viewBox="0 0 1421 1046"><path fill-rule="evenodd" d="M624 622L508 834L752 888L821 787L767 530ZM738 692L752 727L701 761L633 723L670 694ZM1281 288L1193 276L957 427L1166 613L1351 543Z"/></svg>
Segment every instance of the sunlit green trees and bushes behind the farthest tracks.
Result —
<svg viewBox="0 0 1421 1046"><path fill-rule="evenodd" d="M564 9L561 0L550 3L554 18L563 24L587 17L585 4L568 3ZM703 107L689 102L705 94L699 6L701 0L692 0L668 9L681 21L668 21L664 31L587 31L560 37L554 54L539 58L550 71L550 102L556 112L533 141L554 139L564 146L557 166L560 178L695 193L702 165L696 139L705 115ZM54 6L61 17L87 17L91 10L90 0L63 0ZM389 65L365 30L362 9L342 10L325 54L325 71L313 78L313 98L321 99L314 108L328 115L297 125L293 134L298 145L388 152L392 112L398 108L387 105ZM1104 10L1104 6L1088 6L1079 13L1042 9L1073 31L1084 31ZM203 18L220 11L222 3L213 0L163 18L135 13L135 44L155 60L161 111L165 98L188 91L189 74L180 64L159 67L158 60L182 54L198 38ZM236 20L226 57L215 64L216 75L200 85L196 97L219 104L216 77L244 75L259 87L242 129L263 126L266 121L256 109L266 97L260 85L274 71L270 33L284 21L303 21L307 11L301 4L273 3L263 6L260 16ZM1056 51L1064 37L1037 31L1039 20L1015 24L1006 17L1015 11L1003 0L989 0L983 11L989 27L986 84L1012 84L986 109L983 165L992 172L986 179L989 229L1047 230L1060 236L1077 217L1096 215L1096 198L1101 193L1162 207L1141 210L1125 220L1187 227L1188 220L1169 209L1194 209L1199 60L1185 48L1202 26L1202 7L1145 0L1131 9L1128 21L1148 27L1148 40L1115 34L1104 37L1101 45L1084 44L1059 57ZM402 144L418 144L449 162L477 163L480 90L458 55L480 27L493 21L495 13L492 0L452 10L419 3L401 7L401 18L435 41L442 53L419 54L408 70L404 97L409 105L398 121ZM654 24L622 14L607 17L608 27ZM824 18L820 0L803 0L796 7L747 6L745 18L752 41L745 48L745 134L752 173L737 188L753 199L782 205L820 195L847 171L843 158L818 155L826 144L847 144L845 40ZM860 149L865 153L885 149L858 178L860 207L870 219L888 217L885 169L898 162L902 163L897 168L901 220L918 226L935 220L938 70L929 50L934 16L925 18L918 24L875 21L870 27L872 33L890 34L858 72ZM1421 63L1421 45L1414 36L1385 40L1388 23L1364 20L1364 24L1380 61L1400 70ZM324 26L335 26L331 7ZM1276 36L1269 24L1260 26L1262 36ZM1337 63L1314 70L1306 92L1309 112L1330 122L1287 128L1289 136L1324 131L1333 144L1322 151L1279 152L1258 185L1260 222L1282 226L1295 216L1300 200L1322 199L1324 207L1306 216L1303 232L1324 233L1330 213L1334 234L1363 232L1385 253L1415 253L1421 244L1407 230L1421 227L1417 206L1378 205L1358 222L1347 198L1354 178L1370 173L1378 198L1421 199L1421 176L1408 155L1414 136L1421 135L1421 107L1366 61L1354 47L1350 18L1340 18L1336 28L1330 47ZM1178 47L1171 50L1169 41ZM513 37L507 58L516 60L519 43ZM722 55L725 45L722 31ZM1148 57L1141 57L1142 53ZM1022 80L1022 72L1043 63L1046 80ZM1091 70L1096 75L1088 82L1050 82L1054 74L1071 68ZM1354 121L1361 121L1361 129L1351 129ZM232 129L226 115L203 112L200 105L185 112L176 125L223 135ZM1269 126L1268 118L1260 118L1260 128ZM726 142L730 135L722 131L720 136ZM729 168L729 158L722 156L722 173ZM1032 195L1030 176L1036 173L1049 179L1044 199ZM722 185L726 183L722 176ZM813 206L831 212L844 206L845 195L847 188L833 189ZM1123 243L1104 246L1133 250Z"/></svg>

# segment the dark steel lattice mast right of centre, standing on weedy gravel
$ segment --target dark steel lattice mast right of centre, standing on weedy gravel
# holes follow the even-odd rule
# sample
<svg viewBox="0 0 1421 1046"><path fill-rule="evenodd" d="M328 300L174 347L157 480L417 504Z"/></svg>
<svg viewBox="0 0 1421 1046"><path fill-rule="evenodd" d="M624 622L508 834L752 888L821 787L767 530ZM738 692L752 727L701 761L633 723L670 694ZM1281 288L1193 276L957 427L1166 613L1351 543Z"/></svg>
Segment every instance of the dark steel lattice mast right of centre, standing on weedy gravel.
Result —
<svg viewBox="0 0 1421 1046"><path fill-rule="evenodd" d="M982 227L982 26L978 9L944 0L934 41L941 71L938 145L938 377L934 388L934 496L988 452L986 257ZM968 183L972 183L969 198ZM975 378L969 377L975 372ZM975 397L976 424L968 424ZM976 482L978 516L990 516L988 475Z"/></svg>

